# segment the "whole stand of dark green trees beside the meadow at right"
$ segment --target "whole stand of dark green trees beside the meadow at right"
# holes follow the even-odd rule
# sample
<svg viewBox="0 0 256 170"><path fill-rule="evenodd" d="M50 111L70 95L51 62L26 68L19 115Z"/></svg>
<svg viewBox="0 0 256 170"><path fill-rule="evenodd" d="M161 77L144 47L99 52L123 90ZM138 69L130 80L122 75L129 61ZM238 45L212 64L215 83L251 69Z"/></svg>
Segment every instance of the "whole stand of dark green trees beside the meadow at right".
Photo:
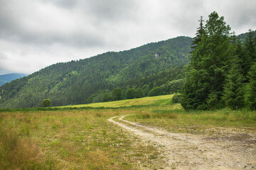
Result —
<svg viewBox="0 0 256 170"><path fill-rule="evenodd" d="M186 110L256 109L255 31L235 36L223 16L201 18L192 42L181 105Z"/></svg>

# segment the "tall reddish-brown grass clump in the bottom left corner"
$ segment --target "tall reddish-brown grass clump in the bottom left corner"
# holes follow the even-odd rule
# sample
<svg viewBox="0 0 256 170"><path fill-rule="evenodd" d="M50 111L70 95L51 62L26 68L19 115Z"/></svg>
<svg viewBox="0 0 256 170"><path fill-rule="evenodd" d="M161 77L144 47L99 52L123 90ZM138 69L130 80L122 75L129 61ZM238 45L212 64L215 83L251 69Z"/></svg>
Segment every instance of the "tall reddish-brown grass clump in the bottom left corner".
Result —
<svg viewBox="0 0 256 170"><path fill-rule="evenodd" d="M38 147L16 132L0 130L0 169L47 169L41 162Z"/></svg>

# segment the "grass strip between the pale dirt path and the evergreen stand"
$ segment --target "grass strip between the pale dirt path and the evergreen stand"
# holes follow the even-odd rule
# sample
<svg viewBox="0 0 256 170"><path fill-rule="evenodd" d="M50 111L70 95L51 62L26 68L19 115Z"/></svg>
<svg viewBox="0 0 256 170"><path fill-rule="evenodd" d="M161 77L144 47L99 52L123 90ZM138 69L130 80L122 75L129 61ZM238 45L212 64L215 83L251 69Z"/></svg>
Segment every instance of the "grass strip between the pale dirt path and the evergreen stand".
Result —
<svg viewBox="0 0 256 170"><path fill-rule="evenodd" d="M256 112L247 110L230 111L223 108L217 111L184 111L165 108L151 108L125 119L145 125L159 126L171 132L188 132L213 135L218 133L214 129L235 128L256 130ZM167 109L166 109L167 108Z"/></svg>

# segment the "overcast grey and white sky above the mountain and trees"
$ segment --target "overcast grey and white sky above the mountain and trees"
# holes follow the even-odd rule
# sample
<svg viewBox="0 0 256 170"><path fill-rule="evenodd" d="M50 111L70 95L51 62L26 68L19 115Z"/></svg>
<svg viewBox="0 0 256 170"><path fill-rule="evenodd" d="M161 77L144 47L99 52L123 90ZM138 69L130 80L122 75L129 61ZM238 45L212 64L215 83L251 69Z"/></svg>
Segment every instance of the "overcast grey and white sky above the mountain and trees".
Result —
<svg viewBox="0 0 256 170"><path fill-rule="evenodd" d="M194 37L217 11L238 35L256 29L255 0L0 0L0 74Z"/></svg>

